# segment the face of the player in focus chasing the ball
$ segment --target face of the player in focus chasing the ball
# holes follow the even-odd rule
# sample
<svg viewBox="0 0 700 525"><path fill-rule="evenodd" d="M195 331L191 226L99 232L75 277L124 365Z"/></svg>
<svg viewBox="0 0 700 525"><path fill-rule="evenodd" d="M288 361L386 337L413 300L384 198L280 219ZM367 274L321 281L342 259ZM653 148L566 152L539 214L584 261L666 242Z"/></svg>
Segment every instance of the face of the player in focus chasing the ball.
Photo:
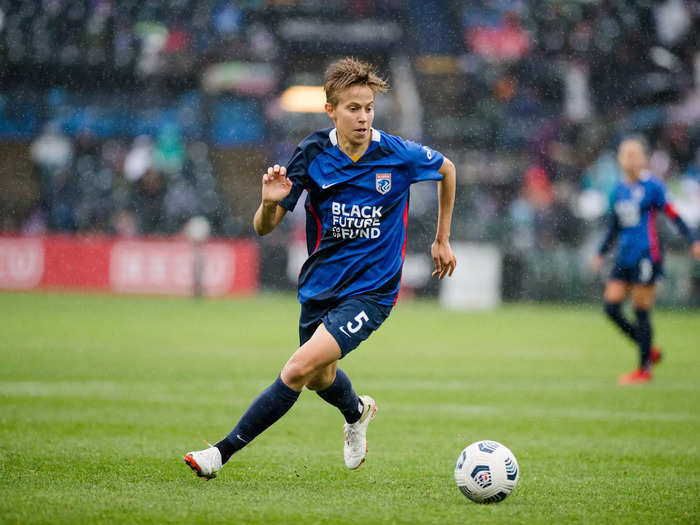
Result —
<svg viewBox="0 0 700 525"><path fill-rule="evenodd" d="M374 91L363 85L350 86L339 93L335 107L326 104L338 136L356 146L369 142L374 120Z"/></svg>

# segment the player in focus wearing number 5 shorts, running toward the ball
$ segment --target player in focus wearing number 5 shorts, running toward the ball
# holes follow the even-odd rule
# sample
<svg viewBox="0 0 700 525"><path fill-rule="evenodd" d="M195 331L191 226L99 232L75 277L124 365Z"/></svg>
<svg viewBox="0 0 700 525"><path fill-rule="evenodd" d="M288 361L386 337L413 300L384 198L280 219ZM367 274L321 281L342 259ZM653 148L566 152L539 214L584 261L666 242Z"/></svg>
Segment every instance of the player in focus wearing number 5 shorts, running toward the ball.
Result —
<svg viewBox="0 0 700 525"><path fill-rule="evenodd" d="M334 127L304 139L287 167L267 169L254 218L259 235L270 233L307 191L309 257L299 274L300 347L228 436L185 456L200 477L215 477L292 407L304 387L345 417L345 465L359 467L377 406L370 396L355 393L338 361L379 328L396 302L411 184L438 181L432 275L452 275L457 264L449 243L454 164L426 146L372 128L375 96L387 84L371 65L353 58L331 64L324 89Z"/></svg>

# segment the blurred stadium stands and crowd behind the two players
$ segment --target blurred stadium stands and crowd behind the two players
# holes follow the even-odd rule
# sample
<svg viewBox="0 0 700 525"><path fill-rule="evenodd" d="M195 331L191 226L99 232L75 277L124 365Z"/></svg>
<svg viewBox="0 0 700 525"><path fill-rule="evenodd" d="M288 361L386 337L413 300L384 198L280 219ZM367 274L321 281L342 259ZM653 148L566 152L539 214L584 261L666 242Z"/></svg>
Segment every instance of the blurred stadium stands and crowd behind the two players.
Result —
<svg viewBox="0 0 700 525"><path fill-rule="evenodd" d="M680 0L0 1L0 229L160 238L204 216L215 238L259 246L263 288L291 290L280 268L303 214L258 239L259 177L328 125L287 90L356 55L392 86L375 126L455 161L453 239L498 247L503 297L595 300L587 261L621 136L649 138L652 170L700 223L699 13ZM431 185L415 188L419 294L437 291L421 278L435 206ZM661 226L661 302L697 306L698 265Z"/></svg>

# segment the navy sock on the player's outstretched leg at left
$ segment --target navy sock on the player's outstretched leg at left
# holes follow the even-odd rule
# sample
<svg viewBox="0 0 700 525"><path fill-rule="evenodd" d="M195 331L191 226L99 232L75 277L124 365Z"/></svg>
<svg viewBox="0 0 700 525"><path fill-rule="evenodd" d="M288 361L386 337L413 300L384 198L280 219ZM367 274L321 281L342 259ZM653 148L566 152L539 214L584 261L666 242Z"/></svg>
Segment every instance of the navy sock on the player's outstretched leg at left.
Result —
<svg viewBox="0 0 700 525"><path fill-rule="evenodd" d="M300 393L285 385L278 376L275 382L250 404L231 433L215 445L221 452L222 463L226 463L235 452L285 415L299 399Z"/></svg>

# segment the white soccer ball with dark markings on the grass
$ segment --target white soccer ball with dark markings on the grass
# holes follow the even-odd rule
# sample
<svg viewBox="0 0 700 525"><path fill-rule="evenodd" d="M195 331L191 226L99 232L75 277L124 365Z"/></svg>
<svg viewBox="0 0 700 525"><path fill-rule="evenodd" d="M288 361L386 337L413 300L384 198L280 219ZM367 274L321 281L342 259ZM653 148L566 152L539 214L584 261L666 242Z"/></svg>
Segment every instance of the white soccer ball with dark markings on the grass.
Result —
<svg viewBox="0 0 700 525"><path fill-rule="evenodd" d="M513 453L495 441L477 441L457 458L455 481L476 503L497 503L513 492L520 472Z"/></svg>

